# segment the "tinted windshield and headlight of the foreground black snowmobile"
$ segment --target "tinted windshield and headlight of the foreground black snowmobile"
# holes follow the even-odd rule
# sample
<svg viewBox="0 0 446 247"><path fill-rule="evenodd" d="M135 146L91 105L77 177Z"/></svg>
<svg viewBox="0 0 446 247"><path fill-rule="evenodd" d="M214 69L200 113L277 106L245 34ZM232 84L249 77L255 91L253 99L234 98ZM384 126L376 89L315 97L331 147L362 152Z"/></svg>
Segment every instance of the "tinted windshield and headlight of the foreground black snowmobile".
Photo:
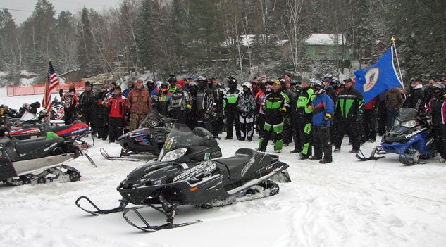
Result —
<svg viewBox="0 0 446 247"><path fill-rule="evenodd" d="M187 125L176 123L166 138L158 161L176 160L184 156L189 147L202 145L209 140L215 141L208 130L197 127L191 131Z"/></svg>

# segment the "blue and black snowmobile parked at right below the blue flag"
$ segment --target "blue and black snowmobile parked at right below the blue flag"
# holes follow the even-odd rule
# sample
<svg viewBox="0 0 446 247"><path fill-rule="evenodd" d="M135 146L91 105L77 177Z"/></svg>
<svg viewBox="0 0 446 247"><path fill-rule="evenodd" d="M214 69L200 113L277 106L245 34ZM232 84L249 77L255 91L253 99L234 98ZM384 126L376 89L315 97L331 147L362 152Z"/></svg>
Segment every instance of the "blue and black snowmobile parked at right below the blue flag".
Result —
<svg viewBox="0 0 446 247"><path fill-rule="evenodd" d="M365 157L361 150L357 152L359 160L377 160L385 156L376 154L395 153L404 165L416 165L420 159L436 156L433 132L428 116L421 117L412 108L399 109L399 116L394 125L384 133L381 146L373 148L370 157Z"/></svg>

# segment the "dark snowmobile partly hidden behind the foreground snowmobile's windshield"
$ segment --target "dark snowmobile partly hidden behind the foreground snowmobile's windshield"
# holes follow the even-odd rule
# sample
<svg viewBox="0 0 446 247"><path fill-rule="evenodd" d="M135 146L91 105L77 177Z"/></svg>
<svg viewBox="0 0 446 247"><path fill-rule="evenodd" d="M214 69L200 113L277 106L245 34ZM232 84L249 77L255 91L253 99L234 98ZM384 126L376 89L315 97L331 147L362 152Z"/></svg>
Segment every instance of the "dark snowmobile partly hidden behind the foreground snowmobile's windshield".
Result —
<svg viewBox="0 0 446 247"><path fill-rule="evenodd" d="M151 110L142 122L140 129L118 137L117 142L123 148L120 157L142 153L157 156L163 148L173 123L173 119L165 118L158 111Z"/></svg>

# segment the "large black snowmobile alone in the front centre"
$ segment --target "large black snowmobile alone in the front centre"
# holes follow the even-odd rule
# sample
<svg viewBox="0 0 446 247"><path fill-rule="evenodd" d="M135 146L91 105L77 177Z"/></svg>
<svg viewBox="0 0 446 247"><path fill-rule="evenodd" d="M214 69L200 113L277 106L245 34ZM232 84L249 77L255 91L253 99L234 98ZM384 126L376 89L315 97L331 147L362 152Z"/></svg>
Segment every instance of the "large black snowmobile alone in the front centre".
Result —
<svg viewBox="0 0 446 247"><path fill-rule="evenodd" d="M235 156L215 158L212 148L208 148L198 152L195 160L187 157L190 149L185 147L202 139L204 134L209 140L215 140L206 129L185 132L186 129L185 125L175 125L159 154L159 161L137 167L120 182L116 189L123 198L117 208L101 210L86 196L78 198L75 204L92 215L123 211L126 222L144 232L154 232L199 222L174 224L178 205L213 208L273 196L279 192L277 182L291 181L286 170L288 165L280 162L278 156L254 149L240 148ZM80 205L83 200L91 204L92 210ZM125 208L128 203L158 210L166 216L166 224L150 225L137 210L142 206ZM142 225L130 220L130 214L136 215Z"/></svg>

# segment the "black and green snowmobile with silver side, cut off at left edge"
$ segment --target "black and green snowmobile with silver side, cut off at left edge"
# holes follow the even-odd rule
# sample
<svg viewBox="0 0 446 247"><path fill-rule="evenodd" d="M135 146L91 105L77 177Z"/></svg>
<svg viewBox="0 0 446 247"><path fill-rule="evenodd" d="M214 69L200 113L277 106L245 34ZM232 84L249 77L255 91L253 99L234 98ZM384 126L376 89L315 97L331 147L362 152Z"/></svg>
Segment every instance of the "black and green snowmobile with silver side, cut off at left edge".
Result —
<svg viewBox="0 0 446 247"><path fill-rule="evenodd" d="M4 132L4 128L1 130ZM0 181L8 185L78 181L80 172L64 162L82 155L71 141L48 132L46 137L19 141L0 137ZM96 166L90 160L92 165Z"/></svg>

